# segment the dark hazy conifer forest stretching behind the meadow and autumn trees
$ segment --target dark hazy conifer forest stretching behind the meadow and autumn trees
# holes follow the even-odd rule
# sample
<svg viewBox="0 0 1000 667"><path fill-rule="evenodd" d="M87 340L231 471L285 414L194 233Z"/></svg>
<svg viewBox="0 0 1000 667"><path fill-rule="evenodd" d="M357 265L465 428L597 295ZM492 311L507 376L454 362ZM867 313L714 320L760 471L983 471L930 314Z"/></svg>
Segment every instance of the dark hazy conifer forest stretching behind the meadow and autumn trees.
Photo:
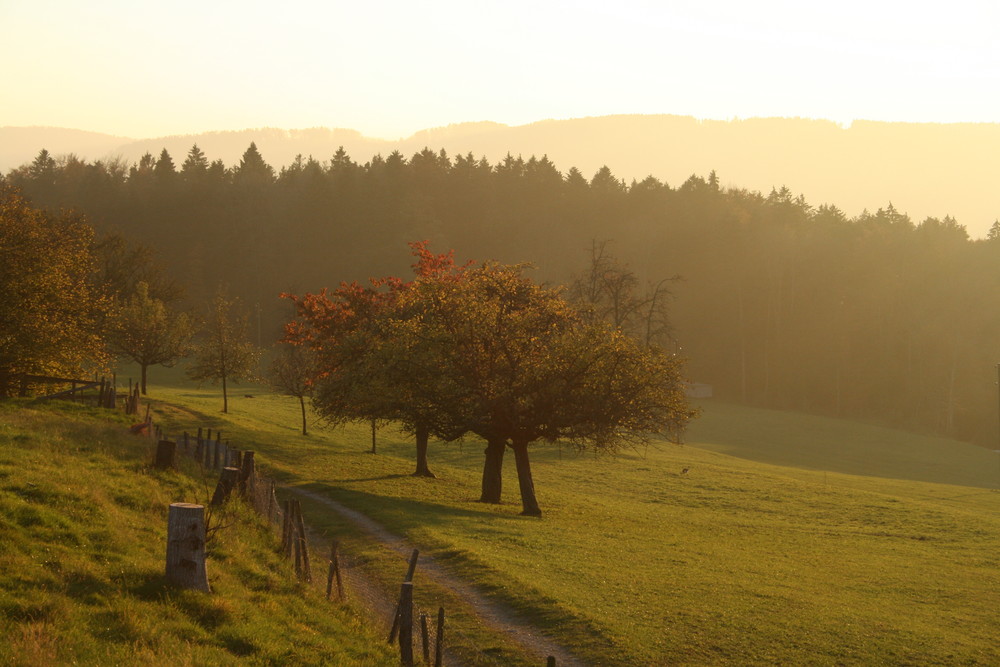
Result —
<svg viewBox="0 0 1000 667"><path fill-rule="evenodd" d="M42 151L5 180L155 247L194 299L233 286L260 304L265 343L290 316L279 293L405 273L410 241L566 283L594 240L613 239L643 284L681 277L673 337L717 396L997 442L1000 224L971 240L948 217L917 222L887 203L849 219L786 188L721 187L714 172L626 183L544 156L430 149L280 169L253 145L232 166L197 147L137 164Z"/></svg>

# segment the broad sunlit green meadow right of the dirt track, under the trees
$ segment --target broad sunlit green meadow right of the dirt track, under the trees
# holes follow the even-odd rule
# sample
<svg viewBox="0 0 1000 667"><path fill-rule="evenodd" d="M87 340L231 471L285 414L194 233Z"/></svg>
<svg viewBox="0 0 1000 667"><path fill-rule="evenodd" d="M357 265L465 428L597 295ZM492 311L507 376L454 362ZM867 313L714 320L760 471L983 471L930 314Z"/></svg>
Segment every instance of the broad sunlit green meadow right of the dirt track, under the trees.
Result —
<svg viewBox="0 0 1000 667"><path fill-rule="evenodd" d="M290 486L405 535L590 664L1000 663L989 450L706 401L685 445L536 447L534 519L512 456L505 504L475 502L474 440L433 443L438 478L415 478L392 429L373 455L367 427L303 437L297 402L259 387L229 415L211 388L152 393L168 432L252 444Z"/></svg>

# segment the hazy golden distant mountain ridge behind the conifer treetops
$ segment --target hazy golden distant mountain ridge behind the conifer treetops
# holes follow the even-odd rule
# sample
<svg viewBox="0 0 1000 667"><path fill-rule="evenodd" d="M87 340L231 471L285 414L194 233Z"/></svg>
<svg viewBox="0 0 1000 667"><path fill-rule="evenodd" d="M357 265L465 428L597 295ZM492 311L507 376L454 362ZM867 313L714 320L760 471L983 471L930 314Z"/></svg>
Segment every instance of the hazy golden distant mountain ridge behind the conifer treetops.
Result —
<svg viewBox="0 0 1000 667"><path fill-rule="evenodd" d="M951 215L972 236L1000 217L1000 124L750 118L698 120L690 116L620 115L543 120L521 126L461 123L400 140L373 139L349 129L274 128L129 139L60 128L0 128L0 171L30 161L46 148L95 160L137 161L166 148L178 166L198 144L210 160L236 164L251 141L280 169L296 155L324 162L343 146L356 162L424 147L449 155L473 153L496 163L507 153L547 155L563 173L588 178L607 165L626 182L652 175L678 186L692 174L715 170L724 186L758 190L787 186L813 206L834 204L848 215L890 202L915 222Z"/></svg>

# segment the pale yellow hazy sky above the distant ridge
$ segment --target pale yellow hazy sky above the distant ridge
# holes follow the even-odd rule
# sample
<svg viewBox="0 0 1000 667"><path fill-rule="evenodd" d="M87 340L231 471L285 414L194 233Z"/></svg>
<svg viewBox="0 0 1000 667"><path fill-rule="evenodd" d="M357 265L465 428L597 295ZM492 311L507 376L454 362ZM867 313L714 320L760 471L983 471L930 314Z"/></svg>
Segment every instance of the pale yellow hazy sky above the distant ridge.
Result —
<svg viewBox="0 0 1000 667"><path fill-rule="evenodd" d="M0 0L0 126L1000 122L1000 3Z"/></svg>

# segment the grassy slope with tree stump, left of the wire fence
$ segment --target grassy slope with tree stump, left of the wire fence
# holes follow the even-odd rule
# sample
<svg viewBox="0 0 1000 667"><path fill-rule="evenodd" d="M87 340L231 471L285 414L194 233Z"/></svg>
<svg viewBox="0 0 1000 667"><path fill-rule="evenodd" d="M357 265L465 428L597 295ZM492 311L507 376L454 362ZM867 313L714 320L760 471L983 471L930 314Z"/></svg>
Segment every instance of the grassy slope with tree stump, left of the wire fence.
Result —
<svg viewBox="0 0 1000 667"><path fill-rule="evenodd" d="M0 664L396 663L353 608L295 579L239 503L214 517L230 527L209 542L213 593L167 586L168 506L210 488L190 462L151 469L152 441L128 423L0 403Z"/></svg>

